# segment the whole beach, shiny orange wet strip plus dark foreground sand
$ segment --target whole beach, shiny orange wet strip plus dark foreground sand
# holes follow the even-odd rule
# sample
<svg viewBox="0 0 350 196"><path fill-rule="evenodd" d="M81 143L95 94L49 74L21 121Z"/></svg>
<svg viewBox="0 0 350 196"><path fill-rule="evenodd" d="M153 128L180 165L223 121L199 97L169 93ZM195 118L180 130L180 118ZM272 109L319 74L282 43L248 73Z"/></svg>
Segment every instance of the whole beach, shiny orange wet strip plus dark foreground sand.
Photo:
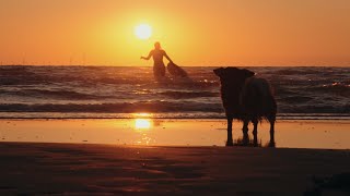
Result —
<svg viewBox="0 0 350 196"><path fill-rule="evenodd" d="M253 148L224 147L224 120L0 120L0 195L349 195L349 124L279 121Z"/></svg>

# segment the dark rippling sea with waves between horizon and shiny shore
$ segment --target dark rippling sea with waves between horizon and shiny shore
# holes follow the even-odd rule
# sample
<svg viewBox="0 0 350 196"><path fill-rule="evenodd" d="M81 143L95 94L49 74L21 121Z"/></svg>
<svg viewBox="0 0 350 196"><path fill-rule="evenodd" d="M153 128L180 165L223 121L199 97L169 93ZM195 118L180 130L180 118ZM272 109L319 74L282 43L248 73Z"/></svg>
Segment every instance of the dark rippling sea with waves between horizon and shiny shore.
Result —
<svg viewBox="0 0 350 196"><path fill-rule="evenodd" d="M184 66L191 82L158 83L152 68L0 66L0 118L222 119L210 66ZM252 66L270 81L278 119L350 119L350 68Z"/></svg>

